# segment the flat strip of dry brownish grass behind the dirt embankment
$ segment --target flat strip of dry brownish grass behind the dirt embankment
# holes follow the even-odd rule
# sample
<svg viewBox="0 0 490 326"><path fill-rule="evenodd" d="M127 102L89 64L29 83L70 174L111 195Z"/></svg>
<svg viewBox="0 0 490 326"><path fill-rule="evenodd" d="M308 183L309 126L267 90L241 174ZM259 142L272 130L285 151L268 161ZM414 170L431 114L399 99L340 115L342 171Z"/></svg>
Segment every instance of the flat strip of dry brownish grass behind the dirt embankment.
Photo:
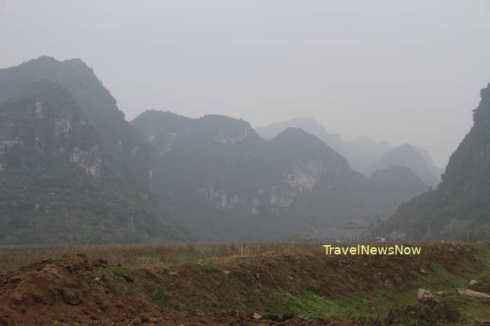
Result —
<svg viewBox="0 0 490 326"><path fill-rule="evenodd" d="M253 256L322 249L323 242L167 242L155 244L104 244L66 247L0 246L0 275L42 259L84 253L128 268L167 263L194 263L201 259Z"/></svg>

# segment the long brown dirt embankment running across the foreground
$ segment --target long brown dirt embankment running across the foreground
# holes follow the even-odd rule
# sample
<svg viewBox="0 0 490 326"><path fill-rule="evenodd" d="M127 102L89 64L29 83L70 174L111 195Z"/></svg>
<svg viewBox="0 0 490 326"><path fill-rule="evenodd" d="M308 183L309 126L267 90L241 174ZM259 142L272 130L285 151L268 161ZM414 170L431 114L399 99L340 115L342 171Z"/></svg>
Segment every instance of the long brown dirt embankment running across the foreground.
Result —
<svg viewBox="0 0 490 326"><path fill-rule="evenodd" d="M301 315L269 315L271 294L308 289L337 298L403 288L414 272L430 273L431 263L458 273L474 254L472 247L444 242L423 245L420 256L319 251L136 270L78 254L1 276L0 325L310 325Z"/></svg>

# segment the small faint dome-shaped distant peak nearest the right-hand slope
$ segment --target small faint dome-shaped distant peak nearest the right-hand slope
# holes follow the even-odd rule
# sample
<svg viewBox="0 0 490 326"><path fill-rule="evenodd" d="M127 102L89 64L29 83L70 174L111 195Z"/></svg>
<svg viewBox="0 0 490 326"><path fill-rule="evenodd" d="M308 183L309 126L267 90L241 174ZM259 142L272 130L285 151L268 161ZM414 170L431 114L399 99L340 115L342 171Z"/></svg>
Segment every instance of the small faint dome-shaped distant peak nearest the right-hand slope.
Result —
<svg viewBox="0 0 490 326"><path fill-rule="evenodd" d="M431 169L427 162L432 162L430 155L423 157L420 150L416 150L410 144L403 144L384 154L382 159L370 167L370 169L368 169L366 172L367 174L372 174L377 170L387 169L389 167L399 165L408 167L408 169L414 171L417 176L420 176L420 178L422 178L422 180L429 185L432 183L438 183L436 181L438 180L439 176L434 175L434 167Z"/></svg>

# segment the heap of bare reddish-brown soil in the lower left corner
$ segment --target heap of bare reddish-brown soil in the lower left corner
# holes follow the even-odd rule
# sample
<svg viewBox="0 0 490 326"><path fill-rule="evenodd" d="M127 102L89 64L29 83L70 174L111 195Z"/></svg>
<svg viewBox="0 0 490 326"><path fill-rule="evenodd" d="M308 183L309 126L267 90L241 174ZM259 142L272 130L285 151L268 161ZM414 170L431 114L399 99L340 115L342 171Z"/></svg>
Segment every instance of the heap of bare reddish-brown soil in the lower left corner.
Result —
<svg viewBox="0 0 490 326"><path fill-rule="evenodd" d="M107 266L107 261L77 254L44 260L2 276L0 325L53 325L55 320L87 325L119 315L117 301L103 287L80 284L81 275ZM124 308L120 304L119 310Z"/></svg>

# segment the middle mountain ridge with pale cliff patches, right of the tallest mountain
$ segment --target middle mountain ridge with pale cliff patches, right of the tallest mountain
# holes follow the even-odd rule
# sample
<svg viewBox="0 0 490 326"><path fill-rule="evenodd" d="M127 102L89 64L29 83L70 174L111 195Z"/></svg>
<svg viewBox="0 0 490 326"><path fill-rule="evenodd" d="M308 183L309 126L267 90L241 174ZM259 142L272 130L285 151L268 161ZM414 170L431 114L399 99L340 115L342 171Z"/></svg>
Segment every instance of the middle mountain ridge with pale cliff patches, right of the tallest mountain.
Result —
<svg viewBox="0 0 490 326"><path fill-rule="evenodd" d="M240 119L189 119L156 110L131 124L153 146L153 188L203 240L271 239L305 226L388 216L428 188L415 174L408 176L419 182L415 193L401 183L366 178L299 128L264 141ZM399 180L398 172L389 175ZM385 193L396 200L384 200Z"/></svg>

